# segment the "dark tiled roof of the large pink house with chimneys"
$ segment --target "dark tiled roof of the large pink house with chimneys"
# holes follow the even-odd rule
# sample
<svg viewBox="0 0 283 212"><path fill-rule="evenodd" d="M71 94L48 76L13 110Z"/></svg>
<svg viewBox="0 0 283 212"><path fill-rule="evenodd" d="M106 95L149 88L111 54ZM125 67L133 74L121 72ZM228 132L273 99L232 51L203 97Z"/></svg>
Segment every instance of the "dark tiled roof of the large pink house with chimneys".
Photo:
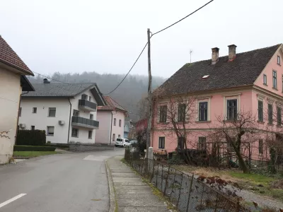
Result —
<svg viewBox="0 0 283 212"><path fill-rule="evenodd" d="M233 61L228 61L228 56L219 57L215 65L211 59L185 64L157 90L173 95L252 85L280 45L237 53ZM209 76L202 79L205 75Z"/></svg>

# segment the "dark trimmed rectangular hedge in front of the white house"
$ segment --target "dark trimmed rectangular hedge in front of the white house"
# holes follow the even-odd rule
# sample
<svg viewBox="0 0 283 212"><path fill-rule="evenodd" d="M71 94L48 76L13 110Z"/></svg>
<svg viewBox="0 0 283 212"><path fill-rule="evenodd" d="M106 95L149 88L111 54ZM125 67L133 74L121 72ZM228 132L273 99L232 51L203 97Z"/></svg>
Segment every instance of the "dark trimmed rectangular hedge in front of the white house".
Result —
<svg viewBox="0 0 283 212"><path fill-rule="evenodd" d="M45 143L45 130L18 130L16 145L42 146Z"/></svg>

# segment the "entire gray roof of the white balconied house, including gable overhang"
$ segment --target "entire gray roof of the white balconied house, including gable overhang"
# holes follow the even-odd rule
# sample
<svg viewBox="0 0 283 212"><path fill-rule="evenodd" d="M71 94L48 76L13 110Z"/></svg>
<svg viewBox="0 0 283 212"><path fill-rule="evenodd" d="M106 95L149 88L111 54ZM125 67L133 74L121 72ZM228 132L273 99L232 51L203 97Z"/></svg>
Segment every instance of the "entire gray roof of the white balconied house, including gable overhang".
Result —
<svg viewBox="0 0 283 212"><path fill-rule="evenodd" d="M22 98L73 98L89 89L98 106L106 105L96 83L38 83L33 84L33 88L35 91L23 93Z"/></svg>

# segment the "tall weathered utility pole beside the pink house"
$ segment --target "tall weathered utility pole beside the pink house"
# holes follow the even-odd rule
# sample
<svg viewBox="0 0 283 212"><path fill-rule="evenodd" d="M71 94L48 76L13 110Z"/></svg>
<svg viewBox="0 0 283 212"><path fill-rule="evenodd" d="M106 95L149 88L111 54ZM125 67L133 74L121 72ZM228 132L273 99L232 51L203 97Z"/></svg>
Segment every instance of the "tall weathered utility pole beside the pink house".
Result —
<svg viewBox="0 0 283 212"><path fill-rule="evenodd" d="M147 90L149 99L149 117L147 118L147 139L146 139L146 158L149 158L149 146L151 146L151 119L152 119L152 94L151 94L151 45L150 45L150 30L147 29L147 57L148 57L148 69L149 69L149 88Z"/></svg>

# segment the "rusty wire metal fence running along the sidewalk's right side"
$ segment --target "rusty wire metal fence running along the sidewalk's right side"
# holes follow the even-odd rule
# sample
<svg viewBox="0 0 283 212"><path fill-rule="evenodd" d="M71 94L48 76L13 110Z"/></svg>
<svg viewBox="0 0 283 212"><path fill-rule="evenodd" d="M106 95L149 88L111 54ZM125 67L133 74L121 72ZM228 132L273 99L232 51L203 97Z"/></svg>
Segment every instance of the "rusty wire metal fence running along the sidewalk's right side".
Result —
<svg viewBox="0 0 283 212"><path fill-rule="evenodd" d="M125 155L127 163L167 196L178 211L249 211L217 189L173 167L155 160L135 159Z"/></svg>

